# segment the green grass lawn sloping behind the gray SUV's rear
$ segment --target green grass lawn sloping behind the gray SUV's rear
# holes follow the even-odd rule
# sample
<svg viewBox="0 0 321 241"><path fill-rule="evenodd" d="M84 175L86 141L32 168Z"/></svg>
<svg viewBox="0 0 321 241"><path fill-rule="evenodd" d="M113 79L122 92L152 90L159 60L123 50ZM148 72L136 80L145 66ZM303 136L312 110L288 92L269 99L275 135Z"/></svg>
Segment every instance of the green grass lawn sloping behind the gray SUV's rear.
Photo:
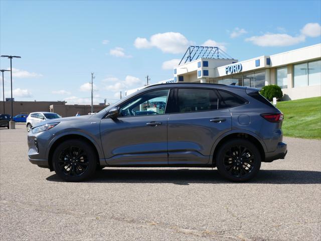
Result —
<svg viewBox="0 0 321 241"><path fill-rule="evenodd" d="M321 97L278 102L284 136L321 139Z"/></svg>

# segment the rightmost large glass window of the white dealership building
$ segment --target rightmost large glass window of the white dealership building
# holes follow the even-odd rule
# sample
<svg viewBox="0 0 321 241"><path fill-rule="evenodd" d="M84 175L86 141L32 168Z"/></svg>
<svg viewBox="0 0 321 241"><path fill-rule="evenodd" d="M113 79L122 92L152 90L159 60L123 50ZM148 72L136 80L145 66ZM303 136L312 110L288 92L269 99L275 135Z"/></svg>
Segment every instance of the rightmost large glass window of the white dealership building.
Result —
<svg viewBox="0 0 321 241"><path fill-rule="evenodd" d="M294 87L321 84L321 60L293 65Z"/></svg>

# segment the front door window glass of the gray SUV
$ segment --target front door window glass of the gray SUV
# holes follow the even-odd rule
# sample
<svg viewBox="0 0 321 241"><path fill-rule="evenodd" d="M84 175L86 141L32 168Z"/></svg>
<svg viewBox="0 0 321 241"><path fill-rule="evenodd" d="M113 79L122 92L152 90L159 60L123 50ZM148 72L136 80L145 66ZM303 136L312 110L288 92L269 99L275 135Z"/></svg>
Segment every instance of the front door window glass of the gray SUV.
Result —
<svg viewBox="0 0 321 241"><path fill-rule="evenodd" d="M140 94L119 106L119 116L164 114L170 89L157 89Z"/></svg>

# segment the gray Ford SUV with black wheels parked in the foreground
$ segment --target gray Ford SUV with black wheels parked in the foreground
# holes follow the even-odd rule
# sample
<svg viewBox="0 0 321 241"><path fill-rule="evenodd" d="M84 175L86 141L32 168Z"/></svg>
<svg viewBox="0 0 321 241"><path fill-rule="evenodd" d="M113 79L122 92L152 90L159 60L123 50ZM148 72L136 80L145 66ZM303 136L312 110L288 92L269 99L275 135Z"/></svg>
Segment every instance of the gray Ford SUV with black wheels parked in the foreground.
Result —
<svg viewBox="0 0 321 241"><path fill-rule="evenodd" d="M39 123L28 134L28 155L65 181L103 167L217 167L241 182L253 178L261 162L285 157L282 120L259 89L158 84L94 115Z"/></svg>

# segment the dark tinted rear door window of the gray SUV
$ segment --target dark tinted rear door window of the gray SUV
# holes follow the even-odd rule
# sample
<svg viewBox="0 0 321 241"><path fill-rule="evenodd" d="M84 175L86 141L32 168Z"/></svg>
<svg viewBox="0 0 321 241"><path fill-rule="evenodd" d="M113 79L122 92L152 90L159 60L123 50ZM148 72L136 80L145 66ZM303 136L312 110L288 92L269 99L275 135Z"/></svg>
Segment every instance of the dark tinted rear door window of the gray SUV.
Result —
<svg viewBox="0 0 321 241"><path fill-rule="evenodd" d="M178 89L178 112L218 109L218 96L214 89Z"/></svg>

